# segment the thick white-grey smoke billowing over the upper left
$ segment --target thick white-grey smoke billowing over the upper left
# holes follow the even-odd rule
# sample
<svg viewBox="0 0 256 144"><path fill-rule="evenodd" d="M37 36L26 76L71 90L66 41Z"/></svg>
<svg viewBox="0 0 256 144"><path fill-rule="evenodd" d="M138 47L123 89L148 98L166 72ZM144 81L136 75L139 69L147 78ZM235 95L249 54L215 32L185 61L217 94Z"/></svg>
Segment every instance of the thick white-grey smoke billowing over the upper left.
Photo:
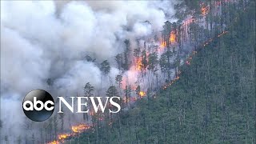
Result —
<svg viewBox="0 0 256 144"><path fill-rule="evenodd" d="M173 6L170 1L1 1L1 131L22 134L22 98L30 90L82 94L86 82L106 89L118 74L114 56L123 52L124 40L134 46L136 38L162 30ZM86 54L96 61L86 62ZM103 60L111 70L110 81L101 84Z"/></svg>

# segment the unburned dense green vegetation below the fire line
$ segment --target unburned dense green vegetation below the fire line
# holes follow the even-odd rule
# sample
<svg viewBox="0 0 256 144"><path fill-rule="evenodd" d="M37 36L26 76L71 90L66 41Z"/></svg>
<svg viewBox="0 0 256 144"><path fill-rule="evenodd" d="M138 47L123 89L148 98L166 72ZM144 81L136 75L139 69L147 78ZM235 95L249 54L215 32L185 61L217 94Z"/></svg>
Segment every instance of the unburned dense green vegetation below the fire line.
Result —
<svg viewBox="0 0 256 144"><path fill-rule="evenodd" d="M172 86L70 142L256 143L255 2L239 2L226 34L198 46Z"/></svg>

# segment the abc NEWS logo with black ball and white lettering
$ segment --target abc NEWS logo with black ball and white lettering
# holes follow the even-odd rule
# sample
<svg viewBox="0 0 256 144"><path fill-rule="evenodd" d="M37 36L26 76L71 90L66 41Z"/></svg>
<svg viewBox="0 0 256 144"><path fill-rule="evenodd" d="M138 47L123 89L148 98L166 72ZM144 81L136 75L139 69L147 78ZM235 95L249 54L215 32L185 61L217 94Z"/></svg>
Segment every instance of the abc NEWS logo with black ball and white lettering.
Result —
<svg viewBox="0 0 256 144"><path fill-rule="evenodd" d="M59 110L58 113L62 112L62 103L72 112L74 113L74 98L77 98L78 102L78 111L76 113L89 113L89 110L82 110L82 106L87 106L87 102L90 99L90 102L94 108L95 113L101 109L102 113L104 113L106 109L107 102L110 102L112 107L114 106L115 110L110 110L110 113L118 113L121 110L121 106L118 102L114 101L114 98L120 100L120 97L106 97L106 103L102 103L102 97L70 97L71 104L66 102L66 100L62 97L58 97L59 99ZM95 102L96 98L98 102ZM85 101L82 103L82 99ZM97 104L96 104L97 103ZM46 119L50 118L50 116L54 113L54 98L45 90L32 90L29 94L26 94L26 97L23 99L22 108L24 114L26 114L27 118L30 118L35 122L42 122Z"/></svg>

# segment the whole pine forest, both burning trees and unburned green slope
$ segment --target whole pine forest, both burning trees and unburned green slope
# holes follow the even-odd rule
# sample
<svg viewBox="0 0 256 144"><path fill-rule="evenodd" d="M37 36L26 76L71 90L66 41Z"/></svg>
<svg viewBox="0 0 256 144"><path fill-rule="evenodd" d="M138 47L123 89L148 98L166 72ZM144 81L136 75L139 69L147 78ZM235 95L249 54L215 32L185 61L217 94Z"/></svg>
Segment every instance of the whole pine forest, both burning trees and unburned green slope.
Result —
<svg viewBox="0 0 256 144"><path fill-rule="evenodd" d="M74 125L64 110L39 126L38 138L18 136L16 142L256 143L255 4L178 2L178 21L162 23L162 31L138 38L135 46L123 41L123 51L112 59L114 78L112 61L86 54L84 61L102 72L101 87L86 82L77 96L120 96L118 114L89 110ZM46 82L51 87L54 79ZM110 83L106 90L104 82ZM32 127L25 124L25 130Z"/></svg>

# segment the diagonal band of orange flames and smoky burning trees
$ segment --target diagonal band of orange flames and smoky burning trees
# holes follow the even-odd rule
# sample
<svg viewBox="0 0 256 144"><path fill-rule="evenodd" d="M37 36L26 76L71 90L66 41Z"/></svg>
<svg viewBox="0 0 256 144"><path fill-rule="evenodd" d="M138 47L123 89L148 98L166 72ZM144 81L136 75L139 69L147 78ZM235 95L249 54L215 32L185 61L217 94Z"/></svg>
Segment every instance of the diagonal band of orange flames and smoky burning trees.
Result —
<svg viewBox="0 0 256 144"><path fill-rule="evenodd" d="M221 38L223 35L228 33L229 26L223 24L218 30L218 33L215 34L204 34L204 29L210 30L213 29L212 26L206 24L207 14L210 13L210 10L214 11L214 14L221 14L222 6L230 3L230 1L216 1L214 6L210 7L204 2L200 3L200 18L195 18L193 14L190 17L185 18L181 23L178 22L165 22L163 26L163 31L152 35L151 38L144 42L143 47L134 49L133 56L130 56L130 59L133 61L130 63L130 68L128 72L122 78L122 81L119 82L119 86L122 90L131 91L130 95L122 95L122 109L129 108L133 105L134 102L141 100L142 98L157 98L159 90L166 90L168 87L172 86L174 82L182 75L182 70L180 66L190 66L190 63L193 62L193 57L198 53L198 50L209 45L211 42L214 42L214 39ZM202 29L200 38L195 37L194 29ZM200 30L196 30L200 31ZM126 45L129 45L129 42L125 42ZM128 44L127 44L128 43ZM173 57L170 59L164 54L171 53ZM151 59L154 59L155 56L160 59L166 59L166 62L171 63L170 67L165 67L164 62L162 67L154 67L154 63L150 63ZM150 64L149 64L150 63ZM159 62L161 65L161 62ZM147 79L151 81L156 81L158 78L157 69L166 69L166 78L164 82L159 82L158 86L152 86ZM149 73L149 74L148 74ZM147 75L148 74L148 75ZM150 75L150 77L149 77ZM153 75L153 76L152 76ZM147 77L148 76L148 77ZM136 83L130 82L130 78L137 78ZM91 110L89 113L91 118L97 119L99 122L104 122L106 118L109 118L107 121L108 125L111 125L114 122L113 115L108 115L104 117L104 114L96 114L94 110ZM60 144L71 138L78 137L79 134L90 130L94 131L94 123L80 123L78 125L70 126L70 131L62 134L58 134L58 138L47 144Z"/></svg>

